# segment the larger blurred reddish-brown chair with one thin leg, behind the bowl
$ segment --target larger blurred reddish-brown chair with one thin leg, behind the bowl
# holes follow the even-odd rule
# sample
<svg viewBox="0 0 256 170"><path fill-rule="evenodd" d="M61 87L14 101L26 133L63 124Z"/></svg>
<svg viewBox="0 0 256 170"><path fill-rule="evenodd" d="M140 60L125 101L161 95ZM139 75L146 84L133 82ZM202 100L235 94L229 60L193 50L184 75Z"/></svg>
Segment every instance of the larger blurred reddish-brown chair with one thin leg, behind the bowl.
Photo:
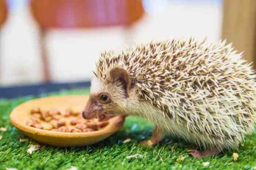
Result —
<svg viewBox="0 0 256 170"><path fill-rule="evenodd" d="M45 46L47 30L109 26L129 29L144 13L141 0L30 0L30 8L41 30L41 59L47 82L51 80Z"/></svg>

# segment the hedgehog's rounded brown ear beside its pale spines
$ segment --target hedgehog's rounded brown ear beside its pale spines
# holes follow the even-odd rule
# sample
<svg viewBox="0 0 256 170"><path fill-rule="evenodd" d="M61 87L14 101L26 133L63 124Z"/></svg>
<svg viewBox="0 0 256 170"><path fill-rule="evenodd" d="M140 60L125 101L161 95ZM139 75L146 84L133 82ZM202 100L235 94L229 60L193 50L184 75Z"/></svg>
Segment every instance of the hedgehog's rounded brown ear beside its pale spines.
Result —
<svg viewBox="0 0 256 170"><path fill-rule="evenodd" d="M115 67L110 70L110 78L112 82L120 81L124 84L124 89L128 94L129 89L131 88L131 77L129 73L120 67Z"/></svg>

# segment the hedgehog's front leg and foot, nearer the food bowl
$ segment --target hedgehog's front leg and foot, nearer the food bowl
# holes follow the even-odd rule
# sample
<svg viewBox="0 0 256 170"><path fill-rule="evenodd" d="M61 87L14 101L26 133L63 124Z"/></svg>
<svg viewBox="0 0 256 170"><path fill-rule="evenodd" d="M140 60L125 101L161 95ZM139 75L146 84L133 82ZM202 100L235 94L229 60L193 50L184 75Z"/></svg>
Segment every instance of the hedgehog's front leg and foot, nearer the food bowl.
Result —
<svg viewBox="0 0 256 170"><path fill-rule="evenodd" d="M164 132L159 128L155 127L151 138L149 140L143 140L142 142L140 142L140 144L146 147L154 146L157 143L161 142L163 137L164 137Z"/></svg>

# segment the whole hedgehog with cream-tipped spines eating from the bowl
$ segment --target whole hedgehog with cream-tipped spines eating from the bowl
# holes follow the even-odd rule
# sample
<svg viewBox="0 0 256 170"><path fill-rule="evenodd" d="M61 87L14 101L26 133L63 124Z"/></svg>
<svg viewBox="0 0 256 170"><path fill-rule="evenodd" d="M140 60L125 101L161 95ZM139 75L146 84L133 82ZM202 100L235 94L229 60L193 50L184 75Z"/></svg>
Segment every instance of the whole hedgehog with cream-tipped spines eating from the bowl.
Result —
<svg viewBox="0 0 256 170"><path fill-rule="evenodd" d="M238 149L255 125L251 63L226 40L167 39L105 51L96 62L85 119L138 116L154 123L154 146L165 135L186 140L193 157Z"/></svg>

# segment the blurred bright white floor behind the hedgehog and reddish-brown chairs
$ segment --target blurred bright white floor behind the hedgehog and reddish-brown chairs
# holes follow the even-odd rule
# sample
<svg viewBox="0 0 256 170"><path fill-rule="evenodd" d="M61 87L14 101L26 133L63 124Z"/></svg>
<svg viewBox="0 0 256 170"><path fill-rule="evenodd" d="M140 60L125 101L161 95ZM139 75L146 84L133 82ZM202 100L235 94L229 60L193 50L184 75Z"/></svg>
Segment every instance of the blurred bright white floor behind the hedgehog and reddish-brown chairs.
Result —
<svg viewBox="0 0 256 170"><path fill-rule="evenodd" d="M130 42L127 37L137 43L189 35L198 39L208 36L211 41L221 38L220 1L172 2L159 6L158 11L145 4L150 13L130 32L118 27L49 32L47 46L54 81L90 80L101 51L124 46ZM38 29L25 5L11 11L0 40L0 86L41 82Z"/></svg>

